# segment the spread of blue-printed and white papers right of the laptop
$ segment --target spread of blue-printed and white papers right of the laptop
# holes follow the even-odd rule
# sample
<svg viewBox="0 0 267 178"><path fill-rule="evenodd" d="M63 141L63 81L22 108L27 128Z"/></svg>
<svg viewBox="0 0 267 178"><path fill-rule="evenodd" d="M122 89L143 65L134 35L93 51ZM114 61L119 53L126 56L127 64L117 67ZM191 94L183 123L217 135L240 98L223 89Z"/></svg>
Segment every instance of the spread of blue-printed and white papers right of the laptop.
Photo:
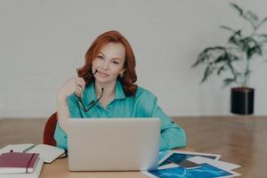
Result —
<svg viewBox="0 0 267 178"><path fill-rule="evenodd" d="M170 150L159 155L158 170L143 172L153 178L169 177L236 177L239 165L220 161L221 155Z"/></svg>

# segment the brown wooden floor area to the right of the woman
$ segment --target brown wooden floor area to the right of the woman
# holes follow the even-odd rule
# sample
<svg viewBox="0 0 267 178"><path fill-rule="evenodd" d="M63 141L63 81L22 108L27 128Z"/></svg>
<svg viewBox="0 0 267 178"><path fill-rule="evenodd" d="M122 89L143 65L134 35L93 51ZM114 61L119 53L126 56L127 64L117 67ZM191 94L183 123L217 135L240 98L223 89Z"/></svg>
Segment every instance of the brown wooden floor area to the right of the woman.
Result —
<svg viewBox="0 0 267 178"><path fill-rule="evenodd" d="M267 117L182 117L188 146L222 155L220 160L242 166L242 178L267 177Z"/></svg>

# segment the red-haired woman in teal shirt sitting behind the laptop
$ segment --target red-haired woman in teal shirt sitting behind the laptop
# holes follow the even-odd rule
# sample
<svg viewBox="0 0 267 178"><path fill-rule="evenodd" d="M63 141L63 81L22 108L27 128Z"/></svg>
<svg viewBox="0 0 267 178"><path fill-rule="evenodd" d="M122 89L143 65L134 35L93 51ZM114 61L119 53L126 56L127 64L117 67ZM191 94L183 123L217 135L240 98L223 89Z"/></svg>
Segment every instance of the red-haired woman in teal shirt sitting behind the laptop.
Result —
<svg viewBox="0 0 267 178"><path fill-rule="evenodd" d="M58 147L68 150L63 130L69 117L158 117L160 150L185 146L182 128L158 107L157 97L134 85L134 52L119 32L98 36L85 54L85 66L77 73L78 77L69 79L57 92L59 122L54 138Z"/></svg>

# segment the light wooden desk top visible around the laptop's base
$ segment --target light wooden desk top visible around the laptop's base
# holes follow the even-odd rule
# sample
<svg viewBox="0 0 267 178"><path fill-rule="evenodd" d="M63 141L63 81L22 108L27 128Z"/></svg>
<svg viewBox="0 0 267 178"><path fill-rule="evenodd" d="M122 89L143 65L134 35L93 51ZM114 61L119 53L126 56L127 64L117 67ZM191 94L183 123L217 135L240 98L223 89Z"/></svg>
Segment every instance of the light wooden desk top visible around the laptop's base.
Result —
<svg viewBox="0 0 267 178"><path fill-rule="evenodd" d="M190 148L179 149L188 150ZM69 172L68 158L57 159L51 164L44 164L40 178L147 178L145 174L141 172Z"/></svg>

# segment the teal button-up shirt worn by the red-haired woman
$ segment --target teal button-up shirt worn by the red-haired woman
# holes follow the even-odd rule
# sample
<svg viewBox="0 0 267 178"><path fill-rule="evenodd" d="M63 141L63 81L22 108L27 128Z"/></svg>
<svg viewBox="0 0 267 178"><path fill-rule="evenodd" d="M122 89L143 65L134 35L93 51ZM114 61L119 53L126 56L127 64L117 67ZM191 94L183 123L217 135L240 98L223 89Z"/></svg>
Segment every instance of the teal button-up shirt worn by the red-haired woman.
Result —
<svg viewBox="0 0 267 178"><path fill-rule="evenodd" d="M85 87L83 103L88 108L92 101L97 100L94 91L94 84ZM125 97L122 85L117 80L115 99L104 109L100 102L97 102L92 109L85 112L79 109L77 96L70 95L67 98L69 113L71 117L158 117L161 120L160 150L171 150L178 147L185 147L186 138L182 128L167 117L163 110L158 106L157 97L150 91L138 86L133 96ZM68 136L61 129L59 123L56 126L54 138L57 146L68 150Z"/></svg>

